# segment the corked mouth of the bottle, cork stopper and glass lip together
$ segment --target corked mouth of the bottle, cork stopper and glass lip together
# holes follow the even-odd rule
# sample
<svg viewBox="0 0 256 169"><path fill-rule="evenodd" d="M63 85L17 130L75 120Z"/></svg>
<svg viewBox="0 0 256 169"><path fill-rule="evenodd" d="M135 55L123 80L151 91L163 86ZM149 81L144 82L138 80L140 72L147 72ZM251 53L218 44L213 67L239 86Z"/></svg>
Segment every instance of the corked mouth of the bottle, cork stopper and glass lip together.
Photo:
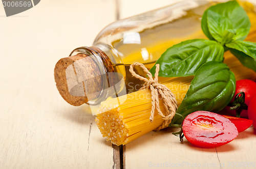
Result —
<svg viewBox="0 0 256 169"><path fill-rule="evenodd" d="M99 104L114 85L113 65L96 47L79 47L55 65L54 77L60 95L71 105Z"/></svg>

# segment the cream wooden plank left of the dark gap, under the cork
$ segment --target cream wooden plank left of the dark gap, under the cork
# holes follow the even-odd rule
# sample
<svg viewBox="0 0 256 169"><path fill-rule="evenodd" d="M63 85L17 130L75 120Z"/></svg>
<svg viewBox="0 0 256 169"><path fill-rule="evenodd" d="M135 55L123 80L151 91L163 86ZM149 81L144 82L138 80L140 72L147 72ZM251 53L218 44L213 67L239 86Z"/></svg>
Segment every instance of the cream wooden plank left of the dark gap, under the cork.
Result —
<svg viewBox="0 0 256 169"><path fill-rule="evenodd" d="M116 19L115 3L41 1L0 17L0 168L120 167L88 107L66 103L53 77L60 58Z"/></svg>

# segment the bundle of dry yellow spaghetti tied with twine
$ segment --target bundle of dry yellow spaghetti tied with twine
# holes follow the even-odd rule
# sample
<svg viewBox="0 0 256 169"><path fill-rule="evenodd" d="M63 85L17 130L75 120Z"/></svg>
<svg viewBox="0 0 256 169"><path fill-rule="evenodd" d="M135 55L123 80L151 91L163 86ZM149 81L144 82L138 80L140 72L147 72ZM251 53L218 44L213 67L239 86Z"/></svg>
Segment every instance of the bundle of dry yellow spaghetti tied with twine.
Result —
<svg viewBox="0 0 256 169"><path fill-rule="evenodd" d="M180 83L181 79L182 83ZM191 80L191 77L183 77L174 78L164 83L169 89L180 88L173 90L174 95L180 96L179 100L176 97L178 105L183 100ZM184 86L184 89L181 86ZM103 137L119 146L157 129L164 120L155 112L154 121L150 122L151 101L150 90L144 89L102 102L100 114L95 121ZM119 104L120 102L123 103ZM161 111L165 111L161 99L159 107Z"/></svg>

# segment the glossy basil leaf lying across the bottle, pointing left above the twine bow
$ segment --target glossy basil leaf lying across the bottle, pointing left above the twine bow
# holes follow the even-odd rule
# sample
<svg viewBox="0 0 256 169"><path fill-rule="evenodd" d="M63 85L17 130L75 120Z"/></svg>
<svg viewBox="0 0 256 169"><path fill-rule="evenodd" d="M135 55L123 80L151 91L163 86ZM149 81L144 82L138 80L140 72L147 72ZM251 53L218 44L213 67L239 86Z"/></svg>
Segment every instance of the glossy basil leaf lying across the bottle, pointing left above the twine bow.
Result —
<svg viewBox="0 0 256 169"><path fill-rule="evenodd" d="M195 75L204 63L223 61L224 48L216 41L187 40L168 48L156 64L160 64L159 76L181 77ZM156 67L150 70L155 74Z"/></svg>

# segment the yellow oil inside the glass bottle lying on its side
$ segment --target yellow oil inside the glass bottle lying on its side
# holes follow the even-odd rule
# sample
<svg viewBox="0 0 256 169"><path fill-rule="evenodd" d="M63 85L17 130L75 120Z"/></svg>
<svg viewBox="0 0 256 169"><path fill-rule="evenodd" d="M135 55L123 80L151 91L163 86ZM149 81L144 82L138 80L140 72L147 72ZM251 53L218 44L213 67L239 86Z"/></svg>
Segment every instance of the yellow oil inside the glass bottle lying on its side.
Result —
<svg viewBox="0 0 256 169"><path fill-rule="evenodd" d="M129 72L130 65L139 62L143 63L147 69L151 69L161 54L169 47L189 39L207 39L201 30L201 16L205 9L213 5L200 6L196 9L187 11L186 15L169 23L158 25L151 29L140 32L140 43L123 44L123 40L114 41L113 47L122 53L122 61L125 66L125 85L128 93L139 90L143 81L131 76ZM251 30L247 41L256 42L256 13L252 4L240 2L240 5L246 10L251 21ZM225 63L228 65L228 58L234 58L230 52L225 52ZM236 59L236 58L234 58ZM245 68L247 69L247 68ZM140 68L135 71L146 76ZM165 82L170 78L159 77L159 82Z"/></svg>

